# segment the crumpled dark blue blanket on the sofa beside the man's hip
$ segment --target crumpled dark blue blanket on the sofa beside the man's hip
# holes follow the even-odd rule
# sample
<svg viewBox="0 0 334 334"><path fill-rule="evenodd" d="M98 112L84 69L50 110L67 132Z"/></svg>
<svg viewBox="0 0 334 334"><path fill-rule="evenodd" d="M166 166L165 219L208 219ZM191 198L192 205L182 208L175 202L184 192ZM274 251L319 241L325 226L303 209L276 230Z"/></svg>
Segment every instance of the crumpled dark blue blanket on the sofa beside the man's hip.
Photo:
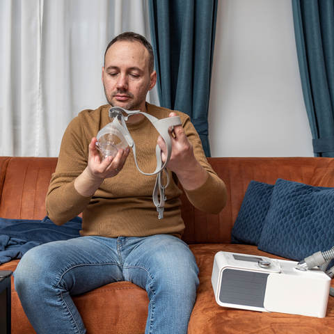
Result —
<svg viewBox="0 0 334 334"><path fill-rule="evenodd" d="M35 246L80 237L81 223L80 217L61 226L47 216L42 221L0 218L0 264L21 259Z"/></svg>

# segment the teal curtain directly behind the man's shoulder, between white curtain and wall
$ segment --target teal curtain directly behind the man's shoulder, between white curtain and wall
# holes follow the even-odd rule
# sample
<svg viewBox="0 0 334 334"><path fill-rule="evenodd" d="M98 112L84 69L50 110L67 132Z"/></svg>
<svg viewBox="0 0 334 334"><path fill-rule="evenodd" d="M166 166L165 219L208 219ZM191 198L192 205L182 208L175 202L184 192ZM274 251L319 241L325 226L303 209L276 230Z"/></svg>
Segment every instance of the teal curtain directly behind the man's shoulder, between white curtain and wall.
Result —
<svg viewBox="0 0 334 334"><path fill-rule="evenodd" d="M218 0L149 0L161 106L191 117L210 157L208 109Z"/></svg>

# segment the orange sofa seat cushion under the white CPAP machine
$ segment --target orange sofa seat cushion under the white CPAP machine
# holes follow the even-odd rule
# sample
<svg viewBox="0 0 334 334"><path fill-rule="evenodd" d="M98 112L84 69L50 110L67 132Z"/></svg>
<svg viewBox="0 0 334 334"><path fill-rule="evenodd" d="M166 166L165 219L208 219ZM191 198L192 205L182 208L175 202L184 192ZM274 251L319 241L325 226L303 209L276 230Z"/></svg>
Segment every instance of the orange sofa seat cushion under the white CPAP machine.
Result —
<svg viewBox="0 0 334 334"><path fill-rule="evenodd" d="M196 303L189 321L188 334L202 333L333 333L334 297L328 299L325 318L304 317L276 312L255 312L223 308L216 303L211 276L218 251L282 258L238 244L201 244L190 246L200 268ZM334 284L332 283L332 286Z"/></svg>

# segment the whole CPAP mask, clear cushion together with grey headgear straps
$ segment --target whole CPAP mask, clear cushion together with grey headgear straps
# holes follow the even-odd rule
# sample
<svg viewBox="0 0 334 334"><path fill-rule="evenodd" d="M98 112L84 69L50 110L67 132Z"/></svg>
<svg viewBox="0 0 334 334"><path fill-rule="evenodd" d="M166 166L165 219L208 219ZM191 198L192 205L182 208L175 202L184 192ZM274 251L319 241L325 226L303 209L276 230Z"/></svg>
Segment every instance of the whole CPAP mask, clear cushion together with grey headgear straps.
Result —
<svg viewBox="0 0 334 334"><path fill-rule="evenodd" d="M127 116L125 116L125 113L127 114ZM141 168L139 168L136 159L136 145L125 123L125 121L129 119L129 116L135 115L137 113L143 114L146 118L148 118L148 120L150 120L152 125L155 127L155 129L157 129L157 132L159 132L159 134L166 143L167 154L164 164L161 160L161 149L159 148L159 145L157 145L155 149L157 157L157 168L154 170L153 173L144 173ZM96 136L97 149L101 152L103 159L105 159L109 156L116 157L118 150L120 150L121 148L125 149L127 145L132 148L132 152L134 152L134 161L136 162L138 170L144 175L157 174L157 180L155 182L152 197L154 205L157 207L158 218L164 218L163 212L164 204L166 201L165 189L169 184L169 174L166 171L166 165L168 164L170 155L172 154L172 142L170 140L170 134L168 132L168 129L170 127L174 127L175 125L182 125L180 117L173 116L159 120L158 118L155 118L148 113L143 113L142 111L130 111L122 109L120 108L120 106L113 106L111 107L111 109L109 109L109 118L112 119L112 122L103 127ZM164 172L167 176L166 185L162 183L162 175ZM160 195L160 199L158 194Z"/></svg>

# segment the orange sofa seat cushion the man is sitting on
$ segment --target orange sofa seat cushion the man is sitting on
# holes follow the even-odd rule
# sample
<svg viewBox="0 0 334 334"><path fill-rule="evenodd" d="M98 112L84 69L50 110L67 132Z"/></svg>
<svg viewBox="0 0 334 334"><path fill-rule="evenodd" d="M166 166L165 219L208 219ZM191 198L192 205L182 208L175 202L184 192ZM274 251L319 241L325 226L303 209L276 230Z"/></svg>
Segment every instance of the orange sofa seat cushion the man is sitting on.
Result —
<svg viewBox="0 0 334 334"><path fill-rule="evenodd" d="M19 260L12 260L0 265L0 270L15 271ZM12 282L12 333L35 334L26 317ZM104 285L98 289L73 296L87 333L132 334L144 333L148 317L148 294L144 289L129 282L118 282ZM126 319L126 321L124 321Z"/></svg>

